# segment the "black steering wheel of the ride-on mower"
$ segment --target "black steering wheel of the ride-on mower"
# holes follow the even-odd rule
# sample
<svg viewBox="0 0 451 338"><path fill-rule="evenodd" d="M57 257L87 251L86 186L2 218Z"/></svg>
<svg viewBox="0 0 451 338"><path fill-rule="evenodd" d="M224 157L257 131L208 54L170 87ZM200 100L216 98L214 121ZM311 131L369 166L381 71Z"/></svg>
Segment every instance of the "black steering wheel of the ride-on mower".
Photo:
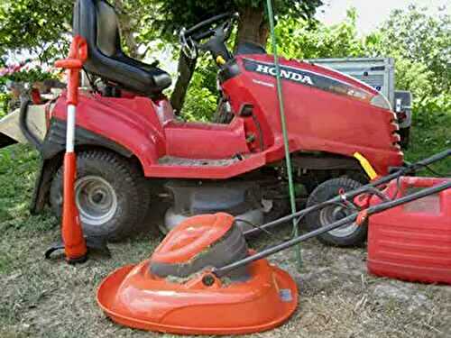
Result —
<svg viewBox="0 0 451 338"><path fill-rule="evenodd" d="M198 58L198 50L209 50L218 53L224 52L224 42L230 37L237 13L219 14L206 21L198 23L189 30L183 28L179 33L181 50L189 59ZM200 43L205 39L212 39Z"/></svg>

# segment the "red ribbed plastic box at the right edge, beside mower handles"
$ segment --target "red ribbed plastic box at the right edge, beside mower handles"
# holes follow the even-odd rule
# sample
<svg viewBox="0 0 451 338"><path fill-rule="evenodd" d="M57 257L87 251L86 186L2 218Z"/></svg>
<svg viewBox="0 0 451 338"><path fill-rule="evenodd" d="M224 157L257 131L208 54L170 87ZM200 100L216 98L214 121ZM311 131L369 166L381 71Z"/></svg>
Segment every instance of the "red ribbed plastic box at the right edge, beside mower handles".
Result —
<svg viewBox="0 0 451 338"><path fill-rule="evenodd" d="M385 189L405 196L451 178L400 178ZM371 204L381 203L373 196ZM377 276L451 284L451 189L370 217L368 270Z"/></svg>

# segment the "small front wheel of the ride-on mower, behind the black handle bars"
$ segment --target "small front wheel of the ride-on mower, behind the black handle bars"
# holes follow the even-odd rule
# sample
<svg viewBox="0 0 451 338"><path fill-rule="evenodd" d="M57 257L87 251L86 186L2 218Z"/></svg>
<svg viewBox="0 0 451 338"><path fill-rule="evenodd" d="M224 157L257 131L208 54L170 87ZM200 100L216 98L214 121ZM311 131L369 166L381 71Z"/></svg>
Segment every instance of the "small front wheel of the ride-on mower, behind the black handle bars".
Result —
<svg viewBox="0 0 451 338"><path fill-rule="evenodd" d="M339 195L340 191L351 191L362 184L350 178L332 178L320 184L308 196L307 207L317 205ZM306 223L309 230L316 230L319 227L331 224L340 218L349 215L353 211L346 211L341 206L327 206L321 210L306 215ZM360 246L366 241L368 232L367 224L348 224L334 231L323 233L318 236L318 240L327 245L342 247Z"/></svg>

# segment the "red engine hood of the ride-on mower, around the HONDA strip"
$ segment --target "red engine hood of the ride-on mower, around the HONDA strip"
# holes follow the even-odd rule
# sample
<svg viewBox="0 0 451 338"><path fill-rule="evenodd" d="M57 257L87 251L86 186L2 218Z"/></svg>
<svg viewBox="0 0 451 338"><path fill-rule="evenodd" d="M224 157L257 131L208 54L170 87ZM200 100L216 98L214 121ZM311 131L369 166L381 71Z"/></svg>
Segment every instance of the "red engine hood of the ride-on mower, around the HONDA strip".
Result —
<svg viewBox="0 0 451 338"><path fill-rule="evenodd" d="M275 78L244 69L245 60L271 64L269 55L238 57L243 73L224 84L235 111L243 102L254 106L254 113L265 132L265 144L281 142L281 123L275 90ZM358 100L347 95L321 90L315 86L283 81L285 114L290 151L327 151L352 157L358 151L370 160L379 175L390 166L400 165L402 153L396 145L399 136L396 116L389 110L370 105L378 93L363 83L332 69L323 69L296 60L281 59L287 69L303 69L307 74L335 78L363 90L368 98Z"/></svg>

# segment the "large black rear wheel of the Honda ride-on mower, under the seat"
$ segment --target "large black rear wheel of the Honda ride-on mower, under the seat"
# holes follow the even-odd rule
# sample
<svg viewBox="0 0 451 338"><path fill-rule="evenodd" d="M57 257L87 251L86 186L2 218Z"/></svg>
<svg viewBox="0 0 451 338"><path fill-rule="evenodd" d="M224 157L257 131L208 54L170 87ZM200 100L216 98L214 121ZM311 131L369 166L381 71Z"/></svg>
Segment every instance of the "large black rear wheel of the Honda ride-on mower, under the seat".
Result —
<svg viewBox="0 0 451 338"><path fill-rule="evenodd" d="M119 241L139 228L150 205L150 194L143 174L131 161L110 151L80 151L77 171L76 202L87 236ZM51 208L59 217L62 178L61 166L50 191Z"/></svg>

